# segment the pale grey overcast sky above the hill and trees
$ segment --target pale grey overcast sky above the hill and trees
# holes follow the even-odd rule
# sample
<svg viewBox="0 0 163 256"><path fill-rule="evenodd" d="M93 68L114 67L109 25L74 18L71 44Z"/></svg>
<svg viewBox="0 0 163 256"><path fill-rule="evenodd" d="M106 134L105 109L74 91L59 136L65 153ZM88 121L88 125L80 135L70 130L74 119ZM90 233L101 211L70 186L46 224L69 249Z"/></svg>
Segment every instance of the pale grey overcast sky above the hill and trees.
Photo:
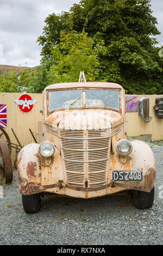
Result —
<svg viewBox="0 0 163 256"><path fill-rule="evenodd" d="M79 0L0 0L0 64L39 65L41 47L36 40L45 18L68 11L73 3ZM158 41L163 44L163 0L152 0L152 10L161 32Z"/></svg>

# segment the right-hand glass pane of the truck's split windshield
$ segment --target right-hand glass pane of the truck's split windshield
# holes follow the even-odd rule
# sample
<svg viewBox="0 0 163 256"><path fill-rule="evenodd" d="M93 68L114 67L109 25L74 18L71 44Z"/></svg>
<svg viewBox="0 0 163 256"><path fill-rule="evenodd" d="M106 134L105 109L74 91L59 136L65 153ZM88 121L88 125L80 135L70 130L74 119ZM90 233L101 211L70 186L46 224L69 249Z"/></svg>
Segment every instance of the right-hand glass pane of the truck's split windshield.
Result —
<svg viewBox="0 0 163 256"><path fill-rule="evenodd" d="M86 107L108 107L119 110L118 90L85 90Z"/></svg>

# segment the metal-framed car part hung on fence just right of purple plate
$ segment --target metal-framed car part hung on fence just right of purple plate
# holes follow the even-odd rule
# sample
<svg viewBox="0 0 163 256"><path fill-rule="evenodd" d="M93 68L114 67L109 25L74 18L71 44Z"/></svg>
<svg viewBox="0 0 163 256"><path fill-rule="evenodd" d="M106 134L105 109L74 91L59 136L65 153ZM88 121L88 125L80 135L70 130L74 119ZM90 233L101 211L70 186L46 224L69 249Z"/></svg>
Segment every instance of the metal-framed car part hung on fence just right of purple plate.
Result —
<svg viewBox="0 0 163 256"><path fill-rule="evenodd" d="M152 117L149 117L149 98L141 97L139 99L139 115L144 119L146 123L151 122Z"/></svg>

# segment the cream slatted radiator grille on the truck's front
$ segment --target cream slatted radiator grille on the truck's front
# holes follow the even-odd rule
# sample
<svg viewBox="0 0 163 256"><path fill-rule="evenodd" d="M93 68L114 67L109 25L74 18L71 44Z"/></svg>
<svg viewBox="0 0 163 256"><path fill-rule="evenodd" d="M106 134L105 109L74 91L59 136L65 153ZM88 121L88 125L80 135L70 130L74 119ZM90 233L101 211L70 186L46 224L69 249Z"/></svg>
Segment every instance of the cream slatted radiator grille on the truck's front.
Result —
<svg viewBox="0 0 163 256"><path fill-rule="evenodd" d="M78 187L106 185L111 137L122 124L101 130L59 130L66 183Z"/></svg>

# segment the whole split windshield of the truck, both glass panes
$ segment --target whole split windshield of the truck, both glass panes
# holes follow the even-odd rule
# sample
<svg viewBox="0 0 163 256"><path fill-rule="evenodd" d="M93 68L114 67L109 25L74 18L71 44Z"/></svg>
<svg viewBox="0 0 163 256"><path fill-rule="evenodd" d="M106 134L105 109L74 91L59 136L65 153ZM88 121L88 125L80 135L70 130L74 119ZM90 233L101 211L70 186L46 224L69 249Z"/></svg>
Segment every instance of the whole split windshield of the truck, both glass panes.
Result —
<svg viewBox="0 0 163 256"><path fill-rule="evenodd" d="M85 97L83 94L85 93ZM55 90L49 94L49 112L61 108L105 107L119 110L119 90L113 89L71 89ZM83 102L83 99L84 102Z"/></svg>

